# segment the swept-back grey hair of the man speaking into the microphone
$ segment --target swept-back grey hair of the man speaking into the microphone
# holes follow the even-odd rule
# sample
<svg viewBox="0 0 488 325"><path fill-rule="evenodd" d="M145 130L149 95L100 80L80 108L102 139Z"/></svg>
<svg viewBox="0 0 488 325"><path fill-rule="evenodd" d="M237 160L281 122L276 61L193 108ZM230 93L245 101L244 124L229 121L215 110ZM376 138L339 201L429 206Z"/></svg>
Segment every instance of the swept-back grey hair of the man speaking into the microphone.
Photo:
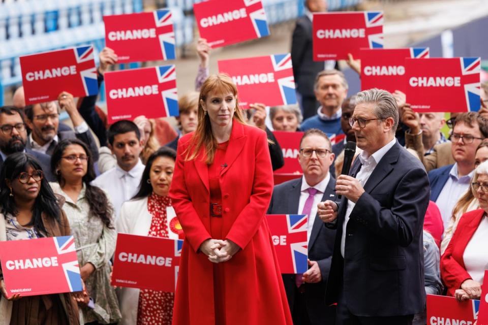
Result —
<svg viewBox="0 0 488 325"><path fill-rule="evenodd" d="M358 92L356 95L356 106L362 103L375 104L374 114L377 118L387 119L393 118L393 133L398 127L398 105L391 93L386 90L372 88Z"/></svg>

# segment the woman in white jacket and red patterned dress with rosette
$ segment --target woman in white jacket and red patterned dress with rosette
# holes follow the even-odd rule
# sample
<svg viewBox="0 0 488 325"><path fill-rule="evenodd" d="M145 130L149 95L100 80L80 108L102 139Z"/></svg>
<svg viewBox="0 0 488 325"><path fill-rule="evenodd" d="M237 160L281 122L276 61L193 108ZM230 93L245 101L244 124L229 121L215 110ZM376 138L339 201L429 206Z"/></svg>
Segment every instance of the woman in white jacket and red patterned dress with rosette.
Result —
<svg viewBox="0 0 488 325"><path fill-rule="evenodd" d="M168 197L175 159L176 152L168 147L161 147L149 156L139 191L120 209L119 233L172 239L182 236ZM171 324L173 293L121 288L119 301L120 325Z"/></svg>

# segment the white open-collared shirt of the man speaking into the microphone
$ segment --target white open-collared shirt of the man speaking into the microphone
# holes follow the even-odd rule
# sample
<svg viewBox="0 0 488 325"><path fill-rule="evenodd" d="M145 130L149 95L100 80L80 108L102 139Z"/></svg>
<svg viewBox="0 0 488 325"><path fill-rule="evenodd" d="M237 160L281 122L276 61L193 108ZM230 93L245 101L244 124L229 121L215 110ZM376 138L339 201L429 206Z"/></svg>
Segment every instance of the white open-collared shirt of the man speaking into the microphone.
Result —
<svg viewBox="0 0 488 325"><path fill-rule="evenodd" d="M362 187L368 181L371 174L375 170L376 166L380 163L381 158L390 150L396 143L396 138L393 138L390 142L388 142L384 147L377 150L371 156L363 151L358 156L359 160L361 161L362 167L359 172L356 174L356 179L359 181ZM344 247L346 246L346 226L347 222L349 221L349 216L351 215L352 209L356 204L352 201L347 200L347 210L346 210L346 217L344 219L344 223L342 224L342 238L341 238L341 254L344 257Z"/></svg>

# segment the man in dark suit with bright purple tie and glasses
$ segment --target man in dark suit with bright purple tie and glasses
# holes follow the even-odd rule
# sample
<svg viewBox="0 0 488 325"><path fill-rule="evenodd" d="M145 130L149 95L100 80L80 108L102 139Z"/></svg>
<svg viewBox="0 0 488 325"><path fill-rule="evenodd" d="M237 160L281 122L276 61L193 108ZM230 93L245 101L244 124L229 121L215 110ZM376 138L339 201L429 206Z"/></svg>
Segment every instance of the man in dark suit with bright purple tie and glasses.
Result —
<svg viewBox="0 0 488 325"><path fill-rule="evenodd" d="M333 324L335 308L325 306L325 286L330 270L335 231L327 229L317 214L317 204L335 197L335 179L328 172L334 159L330 140L310 129L300 141L303 176L275 186L268 214L308 214L309 270L283 274L293 323Z"/></svg>

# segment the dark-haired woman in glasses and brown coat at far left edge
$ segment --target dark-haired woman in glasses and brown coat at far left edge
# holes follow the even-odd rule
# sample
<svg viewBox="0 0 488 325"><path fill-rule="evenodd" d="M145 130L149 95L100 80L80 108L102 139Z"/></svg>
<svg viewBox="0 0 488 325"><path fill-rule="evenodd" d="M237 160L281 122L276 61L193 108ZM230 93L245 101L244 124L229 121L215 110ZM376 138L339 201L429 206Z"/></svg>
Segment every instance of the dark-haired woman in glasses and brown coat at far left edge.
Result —
<svg viewBox="0 0 488 325"><path fill-rule="evenodd" d="M18 152L4 161L0 171L0 241L69 236L70 224L44 178L36 158ZM80 295L59 294L6 298L0 271L1 324L80 323L76 301Z"/></svg>

